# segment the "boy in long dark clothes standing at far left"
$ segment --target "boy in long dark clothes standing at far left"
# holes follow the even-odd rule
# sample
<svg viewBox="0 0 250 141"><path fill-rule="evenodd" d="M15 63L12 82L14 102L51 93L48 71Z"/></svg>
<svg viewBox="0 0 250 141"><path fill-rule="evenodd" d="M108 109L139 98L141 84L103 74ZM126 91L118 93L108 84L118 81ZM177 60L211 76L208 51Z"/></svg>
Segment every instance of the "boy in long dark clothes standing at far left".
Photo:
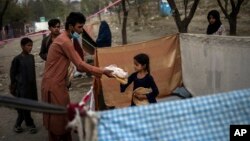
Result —
<svg viewBox="0 0 250 141"><path fill-rule="evenodd" d="M30 38L21 39L21 54L13 60L10 68L10 93L15 97L37 100L36 73L34 56L30 54L33 42ZM14 127L16 133L23 132L23 120L31 134L37 132L31 113L28 110L17 109L18 117Z"/></svg>

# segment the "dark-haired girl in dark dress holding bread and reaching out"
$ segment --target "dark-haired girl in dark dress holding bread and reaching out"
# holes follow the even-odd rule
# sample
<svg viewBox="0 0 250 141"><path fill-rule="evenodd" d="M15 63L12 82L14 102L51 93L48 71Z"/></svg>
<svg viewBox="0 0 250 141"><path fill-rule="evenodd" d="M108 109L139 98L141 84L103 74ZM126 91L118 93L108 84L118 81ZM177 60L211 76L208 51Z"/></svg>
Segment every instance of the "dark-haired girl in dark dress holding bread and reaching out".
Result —
<svg viewBox="0 0 250 141"><path fill-rule="evenodd" d="M139 100L147 100L148 103L156 103L156 96L159 94L158 88L153 77L150 75L149 57L147 54L141 53L134 57L135 72L128 77L127 84L120 84L121 92L134 82L134 97ZM138 88L150 88L152 91L145 94L135 94ZM134 99L134 98L133 98ZM137 105L132 99L131 106Z"/></svg>

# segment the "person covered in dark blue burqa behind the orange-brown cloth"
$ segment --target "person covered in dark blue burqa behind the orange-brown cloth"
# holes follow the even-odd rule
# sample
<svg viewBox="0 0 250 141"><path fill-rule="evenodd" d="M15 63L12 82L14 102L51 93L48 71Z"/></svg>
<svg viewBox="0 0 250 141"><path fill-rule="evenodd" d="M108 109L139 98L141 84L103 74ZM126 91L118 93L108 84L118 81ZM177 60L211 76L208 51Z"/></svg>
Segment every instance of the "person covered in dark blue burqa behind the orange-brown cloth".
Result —
<svg viewBox="0 0 250 141"><path fill-rule="evenodd" d="M111 47L112 35L109 25L106 21L101 21L98 37L96 39L97 47Z"/></svg>

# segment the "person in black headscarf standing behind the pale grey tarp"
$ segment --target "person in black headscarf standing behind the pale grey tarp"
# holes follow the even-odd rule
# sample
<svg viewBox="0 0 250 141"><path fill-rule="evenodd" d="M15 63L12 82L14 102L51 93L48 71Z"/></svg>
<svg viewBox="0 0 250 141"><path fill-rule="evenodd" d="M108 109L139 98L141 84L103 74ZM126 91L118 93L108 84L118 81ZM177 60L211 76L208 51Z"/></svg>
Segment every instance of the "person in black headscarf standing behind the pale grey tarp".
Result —
<svg viewBox="0 0 250 141"><path fill-rule="evenodd" d="M207 27L208 35L223 35L225 32L224 26L220 21L220 13L217 10L211 10L207 15L209 25Z"/></svg>

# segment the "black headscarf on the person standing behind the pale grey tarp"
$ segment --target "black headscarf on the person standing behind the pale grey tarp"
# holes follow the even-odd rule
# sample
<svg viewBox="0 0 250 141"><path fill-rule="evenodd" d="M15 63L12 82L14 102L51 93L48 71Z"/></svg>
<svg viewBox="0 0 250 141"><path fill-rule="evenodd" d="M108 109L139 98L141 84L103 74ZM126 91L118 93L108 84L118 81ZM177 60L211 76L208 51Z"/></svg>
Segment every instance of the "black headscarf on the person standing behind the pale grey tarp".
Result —
<svg viewBox="0 0 250 141"><path fill-rule="evenodd" d="M215 18L215 23L213 23L213 24L209 23L209 25L207 27L207 34L208 35L213 34L216 31L218 31L218 29L220 28L220 26L222 24L220 21L220 13L217 10L212 10L208 13L208 15L207 15L208 22L209 22L210 16L213 16Z"/></svg>

